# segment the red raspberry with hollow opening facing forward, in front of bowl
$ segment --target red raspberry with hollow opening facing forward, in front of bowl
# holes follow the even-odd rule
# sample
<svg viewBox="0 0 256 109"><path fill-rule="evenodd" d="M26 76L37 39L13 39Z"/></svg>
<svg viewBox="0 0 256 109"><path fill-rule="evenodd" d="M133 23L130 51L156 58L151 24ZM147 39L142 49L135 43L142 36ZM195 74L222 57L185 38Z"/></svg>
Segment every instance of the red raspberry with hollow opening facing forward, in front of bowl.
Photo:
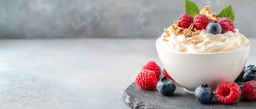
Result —
<svg viewBox="0 0 256 109"><path fill-rule="evenodd" d="M223 104L233 104L240 98L241 89L232 81L224 81L217 86L215 96Z"/></svg>

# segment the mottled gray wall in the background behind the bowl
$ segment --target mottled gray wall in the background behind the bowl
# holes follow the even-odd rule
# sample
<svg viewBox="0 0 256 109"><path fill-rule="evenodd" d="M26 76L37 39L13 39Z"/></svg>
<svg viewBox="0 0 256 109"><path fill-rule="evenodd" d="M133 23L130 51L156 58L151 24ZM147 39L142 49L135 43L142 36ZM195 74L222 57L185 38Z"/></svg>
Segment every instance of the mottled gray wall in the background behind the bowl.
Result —
<svg viewBox="0 0 256 109"><path fill-rule="evenodd" d="M219 12L231 4L235 27L256 37L256 0L192 0ZM156 38L184 0L0 0L0 38Z"/></svg>

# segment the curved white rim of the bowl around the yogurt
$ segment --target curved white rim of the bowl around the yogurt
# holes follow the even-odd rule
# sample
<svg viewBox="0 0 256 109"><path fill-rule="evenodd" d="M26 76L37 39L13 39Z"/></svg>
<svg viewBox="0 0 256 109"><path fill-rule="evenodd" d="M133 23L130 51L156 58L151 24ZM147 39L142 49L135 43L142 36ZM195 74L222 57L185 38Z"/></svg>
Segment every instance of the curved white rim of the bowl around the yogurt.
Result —
<svg viewBox="0 0 256 109"><path fill-rule="evenodd" d="M251 42L250 40L246 39L247 43L239 48L239 49L235 49L235 50L229 50L229 51L221 51L221 52L213 52L213 53L194 53L194 52L181 52L181 51L175 51L175 50L169 50L167 48L164 48L163 46L159 45L159 40L161 40L161 37L160 36L157 40L156 40L156 47L160 47L161 49L163 50L166 50L166 51L169 51L169 52L172 52L172 53L180 53L180 54L224 54L224 53L232 53L232 52L237 52L237 51L241 51L241 50L245 50L246 48L250 47L251 45Z"/></svg>

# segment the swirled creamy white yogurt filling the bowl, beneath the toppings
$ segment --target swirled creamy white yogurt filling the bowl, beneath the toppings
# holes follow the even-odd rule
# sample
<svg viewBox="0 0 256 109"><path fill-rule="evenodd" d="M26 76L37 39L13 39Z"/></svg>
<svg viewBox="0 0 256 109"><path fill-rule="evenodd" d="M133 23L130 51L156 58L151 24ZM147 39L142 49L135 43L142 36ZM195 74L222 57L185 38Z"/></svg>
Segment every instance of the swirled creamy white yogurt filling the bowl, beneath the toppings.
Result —
<svg viewBox="0 0 256 109"><path fill-rule="evenodd" d="M165 34L166 33L162 34L162 40L160 40L159 45L169 50L189 53L214 53L235 50L248 43L245 36L240 34L238 29L235 29L234 33L228 31L224 34L217 35L212 35L206 33L206 30L202 30L199 35L192 37L172 33L166 38L169 41L163 41L163 35ZM202 42L193 45L191 44L192 40L202 40Z"/></svg>

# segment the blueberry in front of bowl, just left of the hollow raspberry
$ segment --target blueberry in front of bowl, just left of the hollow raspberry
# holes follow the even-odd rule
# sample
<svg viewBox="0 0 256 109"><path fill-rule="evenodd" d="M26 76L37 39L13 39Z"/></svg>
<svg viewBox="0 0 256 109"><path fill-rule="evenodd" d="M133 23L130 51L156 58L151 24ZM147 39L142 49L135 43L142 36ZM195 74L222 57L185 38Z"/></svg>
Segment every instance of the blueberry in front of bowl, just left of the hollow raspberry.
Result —
<svg viewBox="0 0 256 109"><path fill-rule="evenodd" d="M209 103L213 98L212 89L208 86L208 84L200 85L195 90L196 100L201 103Z"/></svg>

